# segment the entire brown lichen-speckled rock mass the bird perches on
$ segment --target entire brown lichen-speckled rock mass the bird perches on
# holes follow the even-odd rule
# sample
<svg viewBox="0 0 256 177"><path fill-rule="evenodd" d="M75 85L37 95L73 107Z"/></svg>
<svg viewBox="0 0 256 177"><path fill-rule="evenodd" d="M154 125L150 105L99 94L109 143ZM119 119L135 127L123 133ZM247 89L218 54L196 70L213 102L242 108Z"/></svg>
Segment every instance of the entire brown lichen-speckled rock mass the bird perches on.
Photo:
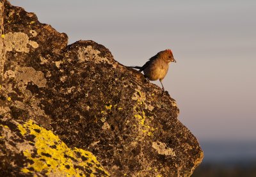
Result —
<svg viewBox="0 0 256 177"><path fill-rule="evenodd" d="M193 173L204 155L168 93L104 46L67 45L34 13L0 2L0 174Z"/></svg>

